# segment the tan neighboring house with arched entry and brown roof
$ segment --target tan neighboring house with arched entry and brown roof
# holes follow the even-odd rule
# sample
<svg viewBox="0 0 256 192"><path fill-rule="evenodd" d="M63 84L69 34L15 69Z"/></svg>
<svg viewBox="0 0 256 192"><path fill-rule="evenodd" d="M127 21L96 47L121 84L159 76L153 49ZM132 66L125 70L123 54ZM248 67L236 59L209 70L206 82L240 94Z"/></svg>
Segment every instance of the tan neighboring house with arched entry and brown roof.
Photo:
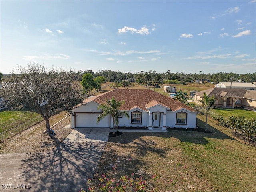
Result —
<svg viewBox="0 0 256 192"><path fill-rule="evenodd" d="M232 83L233 84L233 83ZM256 90L244 88L211 88L194 93L194 100L202 100L204 92L207 96L215 97L213 106L224 108L244 107L256 110Z"/></svg>

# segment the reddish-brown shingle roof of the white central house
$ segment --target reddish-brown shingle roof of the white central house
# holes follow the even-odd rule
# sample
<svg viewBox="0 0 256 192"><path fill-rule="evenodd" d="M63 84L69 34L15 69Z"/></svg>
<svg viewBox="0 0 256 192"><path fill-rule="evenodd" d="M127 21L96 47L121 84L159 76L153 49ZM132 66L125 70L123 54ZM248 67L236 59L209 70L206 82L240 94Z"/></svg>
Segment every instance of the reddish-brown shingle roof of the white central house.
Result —
<svg viewBox="0 0 256 192"><path fill-rule="evenodd" d="M85 100L85 102L88 103L90 101L94 101L98 104L102 104L102 102L104 102L106 99L111 99L112 97L116 98L118 101L125 101L125 104L121 106L120 110L130 110L134 107L138 107L147 111L146 106L150 107L160 104L170 108L172 111L185 108L187 110L196 112L196 110L185 104L149 89L114 89L110 92L88 98Z"/></svg>

